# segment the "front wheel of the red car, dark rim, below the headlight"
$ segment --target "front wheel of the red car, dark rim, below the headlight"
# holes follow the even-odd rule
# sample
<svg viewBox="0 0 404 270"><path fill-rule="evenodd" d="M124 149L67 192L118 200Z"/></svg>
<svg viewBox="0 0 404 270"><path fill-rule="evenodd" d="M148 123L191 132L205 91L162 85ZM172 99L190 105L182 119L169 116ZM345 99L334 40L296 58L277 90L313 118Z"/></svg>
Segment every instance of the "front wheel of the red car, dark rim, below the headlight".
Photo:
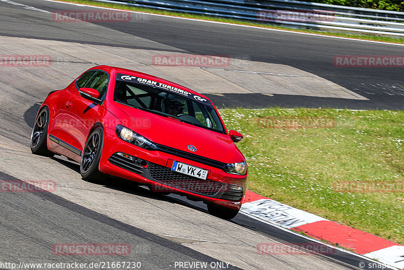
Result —
<svg viewBox="0 0 404 270"><path fill-rule="evenodd" d="M103 152L104 145L104 130L103 128L96 128L88 136L87 142L84 146L83 153L80 160L80 174L81 177L92 183L104 183L107 174L98 170L99 160Z"/></svg>

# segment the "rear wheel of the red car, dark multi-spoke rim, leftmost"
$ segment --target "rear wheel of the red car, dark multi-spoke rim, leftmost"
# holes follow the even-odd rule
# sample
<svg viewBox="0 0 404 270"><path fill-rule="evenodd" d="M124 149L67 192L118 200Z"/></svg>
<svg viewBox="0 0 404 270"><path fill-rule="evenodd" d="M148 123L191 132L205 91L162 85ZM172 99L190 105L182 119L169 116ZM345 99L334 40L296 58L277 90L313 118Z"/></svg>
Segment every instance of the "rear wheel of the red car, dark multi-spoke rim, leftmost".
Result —
<svg viewBox="0 0 404 270"><path fill-rule="evenodd" d="M35 155L53 157L54 153L49 151L46 146L47 128L49 126L49 110L43 107L35 119L32 128L30 148Z"/></svg>

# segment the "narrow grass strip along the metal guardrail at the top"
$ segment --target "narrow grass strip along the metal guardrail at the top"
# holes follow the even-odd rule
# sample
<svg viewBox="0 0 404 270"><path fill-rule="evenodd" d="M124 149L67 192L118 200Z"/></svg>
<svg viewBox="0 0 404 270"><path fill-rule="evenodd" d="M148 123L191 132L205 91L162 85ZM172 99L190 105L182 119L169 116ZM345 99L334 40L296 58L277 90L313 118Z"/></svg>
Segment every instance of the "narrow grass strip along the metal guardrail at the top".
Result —
<svg viewBox="0 0 404 270"><path fill-rule="evenodd" d="M297 31L297 32L304 32L304 33L315 33L315 34L322 34L322 35L358 38L358 39L392 42L392 43L404 43L404 38L394 38L394 37L388 37L388 36L347 34L347 33L343 33L343 32L342 33L327 32L327 31L318 31L318 30L309 30L309 29L292 29L292 28L270 25L270 24L265 24L265 23L252 22L252 21L240 21L240 20L224 19L224 18L220 18L220 17L196 15L196 14L190 14L190 13L162 11L162 10L147 9L147 8L137 8L137 7L130 7L130 6L126 6L126 5L120 5L120 4L94 2L94 1L90 1L90 0L57 0L57 1L78 3L78 4L84 4L84 5L92 5L92 6L105 7L105 8L114 8L114 9L123 9L123 10L130 10L130 11L139 11L139 12L146 12L146 13L170 15L170 16L177 16L177 17L184 17L184 18L201 19L201 20L216 21L216 22L226 22L226 23L233 23L233 24L258 26L258 27L271 28L271 29L290 30L290 31Z"/></svg>

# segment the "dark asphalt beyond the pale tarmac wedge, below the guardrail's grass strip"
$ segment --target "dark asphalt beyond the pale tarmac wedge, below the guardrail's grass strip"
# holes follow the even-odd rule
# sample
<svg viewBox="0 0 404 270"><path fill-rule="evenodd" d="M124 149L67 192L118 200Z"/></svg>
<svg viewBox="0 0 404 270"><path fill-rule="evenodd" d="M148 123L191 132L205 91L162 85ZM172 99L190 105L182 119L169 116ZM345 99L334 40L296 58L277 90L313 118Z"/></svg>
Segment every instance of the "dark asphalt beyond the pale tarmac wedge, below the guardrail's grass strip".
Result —
<svg viewBox="0 0 404 270"><path fill-rule="evenodd" d="M50 12L91 9L41 0L19 0L18 3ZM0 5L6 4L0 2ZM10 7L10 5L7 6ZM24 18L18 16L19 12L21 12L21 7L15 6L15 14L0 18L0 25L7 24L7 27L0 27L0 35L159 50L159 48L150 48L149 44L142 42L114 41L108 36L104 36L103 33L93 34L104 37L104 40L94 39L93 36L79 31L76 28L80 27L79 24L61 24L42 20L41 17L44 14L40 12L38 12L38 17ZM10 21L10 17L13 18L12 21ZM226 95L225 98L212 97L218 105L224 104L226 107L279 105L366 109L404 108L403 68L338 68L333 65L333 58L338 55L404 55L404 46L161 16L141 16L130 23L95 24L154 40L193 54L229 55L233 58L289 65L326 78L370 99L370 101L332 98L313 100L310 97L301 96L275 95L275 97L262 98L259 95L260 102L257 103L255 97L246 98L244 95L238 94ZM173 51L176 50L173 49Z"/></svg>

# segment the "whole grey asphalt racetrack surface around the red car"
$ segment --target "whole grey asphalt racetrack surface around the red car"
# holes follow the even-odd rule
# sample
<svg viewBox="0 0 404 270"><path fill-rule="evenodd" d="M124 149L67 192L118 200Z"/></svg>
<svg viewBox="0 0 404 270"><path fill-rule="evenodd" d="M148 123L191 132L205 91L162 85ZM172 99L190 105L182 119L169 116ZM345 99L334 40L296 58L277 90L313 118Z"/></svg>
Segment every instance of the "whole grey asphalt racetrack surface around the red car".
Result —
<svg viewBox="0 0 404 270"><path fill-rule="evenodd" d="M141 269L200 269L190 263L206 262L207 269L317 270L361 269L361 261L369 262L340 249L327 255L259 254L260 243L311 240L243 214L222 220L209 215L203 203L158 195L127 181L85 182L77 163L60 156L32 155L29 138L47 93L66 87L97 64L144 68L191 86L206 83L210 90L205 93L218 107L402 109L402 68L338 68L333 58L401 55L404 47L152 15L125 23L55 22L52 12L67 9L94 10L42 0L0 1L0 55L52 55L54 61L40 68L1 66L0 179L57 184L54 193L0 193L0 268L11 269L6 262L20 266L21 262L82 262L89 268L90 263L126 261L139 262L134 265ZM181 77L180 68L147 62L158 52L227 55L245 62L224 71L188 68L188 81ZM264 74L271 68L283 72ZM300 79L286 81L285 72ZM207 79L197 80L199 74ZM209 84L208 78L223 87ZM266 80L277 85L304 83L296 92L285 92L265 88ZM224 91L226 85L234 88ZM333 85L333 91L324 91L322 85ZM129 245L131 252L58 255L53 248L60 243L121 243Z"/></svg>

